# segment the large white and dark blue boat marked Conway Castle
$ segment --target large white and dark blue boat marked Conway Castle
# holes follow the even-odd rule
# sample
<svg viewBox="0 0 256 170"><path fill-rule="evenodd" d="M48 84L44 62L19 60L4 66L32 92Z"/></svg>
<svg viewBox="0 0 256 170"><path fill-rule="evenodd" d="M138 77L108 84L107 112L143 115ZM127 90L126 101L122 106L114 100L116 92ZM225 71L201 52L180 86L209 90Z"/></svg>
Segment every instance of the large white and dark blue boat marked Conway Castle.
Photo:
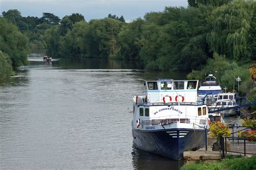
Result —
<svg viewBox="0 0 256 170"><path fill-rule="evenodd" d="M147 93L133 97L133 145L174 160L205 145L210 124L197 101L198 80L146 81Z"/></svg>

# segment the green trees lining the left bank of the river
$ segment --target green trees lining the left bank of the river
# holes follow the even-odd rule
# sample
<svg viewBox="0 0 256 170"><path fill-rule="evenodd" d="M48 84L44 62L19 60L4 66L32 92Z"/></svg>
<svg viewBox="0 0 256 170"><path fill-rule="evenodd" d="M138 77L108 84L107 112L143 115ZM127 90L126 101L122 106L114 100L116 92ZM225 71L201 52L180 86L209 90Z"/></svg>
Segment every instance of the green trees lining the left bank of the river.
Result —
<svg viewBox="0 0 256 170"><path fill-rule="evenodd" d="M45 30L59 24L59 17L22 17L18 10L3 11L0 16L0 78L14 75L16 67L28 64L31 50L45 48Z"/></svg>

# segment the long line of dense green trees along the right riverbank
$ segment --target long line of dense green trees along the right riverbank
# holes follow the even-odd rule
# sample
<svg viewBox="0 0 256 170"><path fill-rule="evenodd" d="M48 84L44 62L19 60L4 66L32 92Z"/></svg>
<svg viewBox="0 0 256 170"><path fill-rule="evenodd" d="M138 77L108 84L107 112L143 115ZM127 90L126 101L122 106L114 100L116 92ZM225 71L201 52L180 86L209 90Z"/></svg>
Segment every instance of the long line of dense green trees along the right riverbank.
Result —
<svg viewBox="0 0 256 170"><path fill-rule="evenodd" d="M45 32L48 55L142 60L145 69L186 71L198 70L214 52L245 63L255 59L255 2L188 4L149 12L131 23L66 16Z"/></svg>

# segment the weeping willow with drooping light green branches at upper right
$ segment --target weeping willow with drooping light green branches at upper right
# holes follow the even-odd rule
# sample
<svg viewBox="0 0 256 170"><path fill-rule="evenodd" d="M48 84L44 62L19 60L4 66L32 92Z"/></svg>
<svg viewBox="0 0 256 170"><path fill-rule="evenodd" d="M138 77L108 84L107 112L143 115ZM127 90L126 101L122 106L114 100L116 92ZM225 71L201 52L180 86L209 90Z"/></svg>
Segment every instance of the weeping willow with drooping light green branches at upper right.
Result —
<svg viewBox="0 0 256 170"><path fill-rule="evenodd" d="M213 11L213 28L207 42L213 52L230 59L251 57L251 23L255 2L235 1Z"/></svg>

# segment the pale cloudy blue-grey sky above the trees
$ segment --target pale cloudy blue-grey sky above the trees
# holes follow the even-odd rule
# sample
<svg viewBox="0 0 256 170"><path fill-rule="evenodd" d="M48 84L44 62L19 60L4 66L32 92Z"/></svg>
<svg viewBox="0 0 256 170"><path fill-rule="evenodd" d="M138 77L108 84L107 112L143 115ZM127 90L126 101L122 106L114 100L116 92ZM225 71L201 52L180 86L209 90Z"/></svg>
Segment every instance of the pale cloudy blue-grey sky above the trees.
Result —
<svg viewBox="0 0 256 170"><path fill-rule="evenodd" d="M50 12L62 19L72 13L80 13L86 21L105 18L109 13L124 16L126 22L143 18L146 12L164 11L165 6L187 7L187 0L0 0L3 11L17 9L23 17L41 18Z"/></svg>

